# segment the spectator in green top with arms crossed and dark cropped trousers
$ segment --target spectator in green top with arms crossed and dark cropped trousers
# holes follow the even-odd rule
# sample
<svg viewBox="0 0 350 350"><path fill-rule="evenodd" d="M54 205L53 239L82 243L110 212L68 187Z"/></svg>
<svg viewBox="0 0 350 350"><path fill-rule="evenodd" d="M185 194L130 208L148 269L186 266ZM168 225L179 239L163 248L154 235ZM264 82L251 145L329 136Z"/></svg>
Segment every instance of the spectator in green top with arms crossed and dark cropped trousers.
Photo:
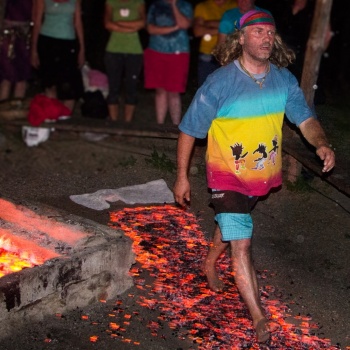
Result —
<svg viewBox="0 0 350 350"><path fill-rule="evenodd" d="M120 94L125 82L124 120L131 122L137 103L137 85L142 70L143 49L138 31L145 26L143 0L107 0L105 28L111 32L106 47L105 67L108 76L109 117L119 116Z"/></svg>

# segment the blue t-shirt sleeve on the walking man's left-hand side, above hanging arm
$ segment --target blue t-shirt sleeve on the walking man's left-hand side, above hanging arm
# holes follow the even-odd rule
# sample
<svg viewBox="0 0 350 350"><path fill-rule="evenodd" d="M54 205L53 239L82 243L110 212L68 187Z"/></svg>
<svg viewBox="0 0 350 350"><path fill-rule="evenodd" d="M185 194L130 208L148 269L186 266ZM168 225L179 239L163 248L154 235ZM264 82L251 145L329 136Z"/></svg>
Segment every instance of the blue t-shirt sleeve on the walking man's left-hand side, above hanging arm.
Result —
<svg viewBox="0 0 350 350"><path fill-rule="evenodd" d="M216 85L209 76L198 89L179 125L183 133L199 139L207 136L210 125L217 116L219 94Z"/></svg>

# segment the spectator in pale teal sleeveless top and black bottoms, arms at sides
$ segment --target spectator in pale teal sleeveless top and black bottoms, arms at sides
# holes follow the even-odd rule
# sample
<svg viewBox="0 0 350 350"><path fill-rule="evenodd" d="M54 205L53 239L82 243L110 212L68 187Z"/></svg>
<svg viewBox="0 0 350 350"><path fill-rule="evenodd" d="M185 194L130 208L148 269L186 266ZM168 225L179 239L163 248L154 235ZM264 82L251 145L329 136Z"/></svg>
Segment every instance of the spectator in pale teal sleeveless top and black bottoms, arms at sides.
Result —
<svg viewBox="0 0 350 350"><path fill-rule="evenodd" d="M45 95L73 111L83 94L85 63L81 0L34 0L32 65Z"/></svg>

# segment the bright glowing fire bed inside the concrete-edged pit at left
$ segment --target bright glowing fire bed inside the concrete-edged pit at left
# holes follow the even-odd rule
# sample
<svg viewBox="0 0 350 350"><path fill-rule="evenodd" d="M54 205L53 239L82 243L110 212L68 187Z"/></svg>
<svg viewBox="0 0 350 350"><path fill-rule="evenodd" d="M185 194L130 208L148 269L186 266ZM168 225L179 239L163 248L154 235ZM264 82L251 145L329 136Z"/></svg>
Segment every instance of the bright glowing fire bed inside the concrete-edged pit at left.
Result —
<svg viewBox="0 0 350 350"><path fill-rule="evenodd" d="M55 246L69 247L87 236L79 229L2 198L0 223L0 277L59 257Z"/></svg>

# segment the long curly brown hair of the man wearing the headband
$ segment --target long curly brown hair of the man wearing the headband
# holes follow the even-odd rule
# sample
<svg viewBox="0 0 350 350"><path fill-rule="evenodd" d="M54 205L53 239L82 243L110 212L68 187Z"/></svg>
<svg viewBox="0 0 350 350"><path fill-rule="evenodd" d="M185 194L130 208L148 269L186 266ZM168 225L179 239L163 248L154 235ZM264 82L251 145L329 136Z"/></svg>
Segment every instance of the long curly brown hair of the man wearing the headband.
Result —
<svg viewBox="0 0 350 350"><path fill-rule="evenodd" d="M227 36L225 42L219 44L213 51L213 55L225 66L230 62L238 59L242 55L242 45L239 43L241 35L244 35L244 29L236 30ZM269 61L277 67L287 67L295 60L295 53L282 40L281 36L276 33L273 49Z"/></svg>

